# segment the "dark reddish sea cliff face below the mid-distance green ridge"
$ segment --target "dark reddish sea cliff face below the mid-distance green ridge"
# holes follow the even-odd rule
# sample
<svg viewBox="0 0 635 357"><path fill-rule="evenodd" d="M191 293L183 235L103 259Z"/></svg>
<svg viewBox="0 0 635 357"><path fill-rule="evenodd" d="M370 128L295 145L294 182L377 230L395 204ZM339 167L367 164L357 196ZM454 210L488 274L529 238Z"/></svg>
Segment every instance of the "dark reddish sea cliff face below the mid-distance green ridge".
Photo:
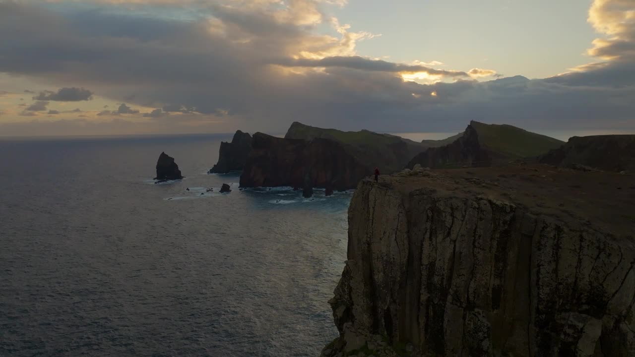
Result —
<svg viewBox="0 0 635 357"><path fill-rule="evenodd" d="M255 133L240 178L241 187L291 186L351 189L372 173L344 147L324 138L311 141Z"/></svg>

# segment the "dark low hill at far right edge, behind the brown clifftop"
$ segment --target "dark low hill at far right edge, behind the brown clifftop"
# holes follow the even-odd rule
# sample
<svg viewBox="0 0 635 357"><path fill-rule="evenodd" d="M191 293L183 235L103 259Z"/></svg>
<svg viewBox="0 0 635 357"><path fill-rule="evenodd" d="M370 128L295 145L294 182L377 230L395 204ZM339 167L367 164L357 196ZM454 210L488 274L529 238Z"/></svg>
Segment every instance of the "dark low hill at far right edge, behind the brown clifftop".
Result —
<svg viewBox="0 0 635 357"><path fill-rule="evenodd" d="M540 158L555 166L580 164L606 171L635 171L635 135L572 137Z"/></svg>

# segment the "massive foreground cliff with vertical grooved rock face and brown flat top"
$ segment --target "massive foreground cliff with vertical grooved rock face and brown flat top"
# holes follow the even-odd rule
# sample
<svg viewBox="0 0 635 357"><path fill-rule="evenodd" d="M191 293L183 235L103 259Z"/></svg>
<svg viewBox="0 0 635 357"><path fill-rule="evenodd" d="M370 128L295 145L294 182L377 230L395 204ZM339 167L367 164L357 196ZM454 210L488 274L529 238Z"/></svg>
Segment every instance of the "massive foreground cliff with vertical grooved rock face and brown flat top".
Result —
<svg viewBox="0 0 635 357"><path fill-rule="evenodd" d="M352 197L323 356L635 356L632 178L417 172Z"/></svg>

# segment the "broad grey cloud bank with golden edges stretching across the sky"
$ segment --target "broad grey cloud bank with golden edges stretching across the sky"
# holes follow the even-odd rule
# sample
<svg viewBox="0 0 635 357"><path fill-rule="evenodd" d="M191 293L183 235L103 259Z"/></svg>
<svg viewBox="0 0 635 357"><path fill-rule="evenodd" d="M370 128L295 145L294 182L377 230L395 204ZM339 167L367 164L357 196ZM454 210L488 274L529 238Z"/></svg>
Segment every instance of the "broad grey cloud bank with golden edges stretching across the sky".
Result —
<svg viewBox="0 0 635 357"><path fill-rule="evenodd" d="M338 27L338 38L316 36L306 18L283 21L262 10L207 6L187 22L107 8L50 8L0 3L0 72L45 77L65 88L84 86L112 100L133 98L126 102L161 109L145 113L149 118L196 112L192 120L269 132L284 131L294 120L346 130L446 131L471 119L528 128L612 126L627 123L635 111L632 41L621 23L615 33L627 43L599 44L598 53L612 57L603 64L547 79L479 83L469 75L495 72L359 57L354 45L364 34ZM600 15L601 24L615 18ZM404 72L460 80L418 84L403 81ZM118 114L138 111L119 105L97 115ZM176 128L177 117L161 123Z"/></svg>

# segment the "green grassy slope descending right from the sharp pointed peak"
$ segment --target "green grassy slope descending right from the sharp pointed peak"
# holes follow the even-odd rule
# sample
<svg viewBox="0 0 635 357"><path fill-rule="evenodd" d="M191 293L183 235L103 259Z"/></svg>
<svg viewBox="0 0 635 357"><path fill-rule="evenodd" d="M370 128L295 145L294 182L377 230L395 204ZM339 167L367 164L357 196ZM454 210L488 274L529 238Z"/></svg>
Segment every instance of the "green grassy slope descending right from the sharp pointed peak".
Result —
<svg viewBox="0 0 635 357"><path fill-rule="evenodd" d="M470 123L479 143L505 158L533 158L565 144L558 139L532 133L516 126Z"/></svg>

